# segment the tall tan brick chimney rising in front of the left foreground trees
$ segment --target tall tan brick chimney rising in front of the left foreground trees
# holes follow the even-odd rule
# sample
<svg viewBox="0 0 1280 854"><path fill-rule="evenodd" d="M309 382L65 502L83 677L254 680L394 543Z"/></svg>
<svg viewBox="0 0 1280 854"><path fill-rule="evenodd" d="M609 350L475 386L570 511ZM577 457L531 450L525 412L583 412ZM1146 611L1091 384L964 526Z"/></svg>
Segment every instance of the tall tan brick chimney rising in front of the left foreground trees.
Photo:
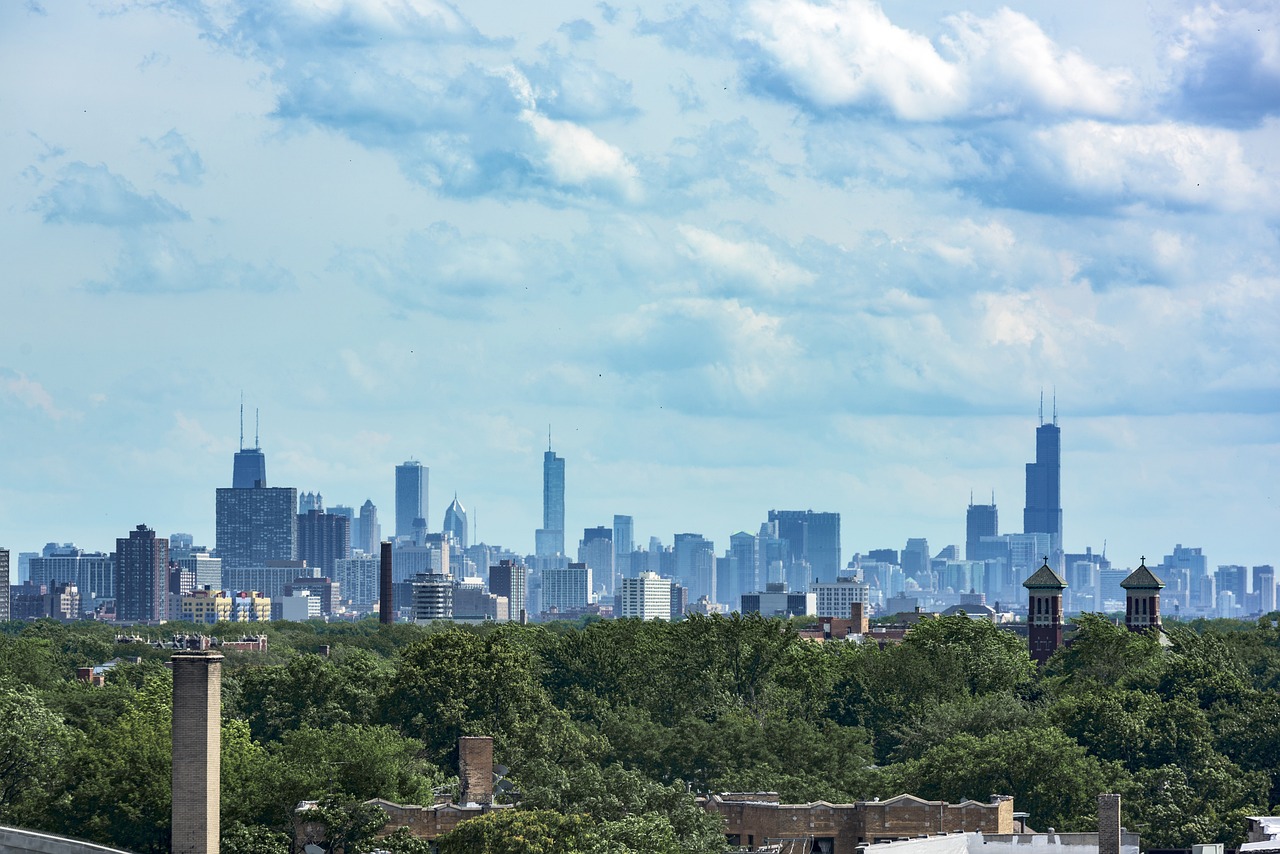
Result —
<svg viewBox="0 0 1280 854"><path fill-rule="evenodd" d="M173 654L173 853L218 854L223 657Z"/></svg>

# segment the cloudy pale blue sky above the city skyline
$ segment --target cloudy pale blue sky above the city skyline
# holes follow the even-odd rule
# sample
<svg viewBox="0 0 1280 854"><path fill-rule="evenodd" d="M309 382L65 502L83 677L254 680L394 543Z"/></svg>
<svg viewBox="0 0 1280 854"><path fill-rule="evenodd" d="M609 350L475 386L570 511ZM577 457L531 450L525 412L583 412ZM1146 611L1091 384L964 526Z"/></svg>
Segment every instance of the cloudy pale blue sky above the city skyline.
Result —
<svg viewBox="0 0 1280 854"><path fill-rule="evenodd" d="M1280 547L1280 4L0 4L0 544L430 467L531 552Z"/></svg>

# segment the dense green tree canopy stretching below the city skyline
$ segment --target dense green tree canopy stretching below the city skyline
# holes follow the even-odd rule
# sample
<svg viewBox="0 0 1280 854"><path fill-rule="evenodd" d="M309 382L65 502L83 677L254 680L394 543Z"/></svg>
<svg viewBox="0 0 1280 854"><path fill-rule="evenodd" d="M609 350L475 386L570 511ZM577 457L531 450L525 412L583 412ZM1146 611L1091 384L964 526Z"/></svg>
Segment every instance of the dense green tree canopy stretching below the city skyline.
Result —
<svg viewBox="0 0 1280 854"><path fill-rule="evenodd" d="M712 854L724 842L704 791L1009 794L1033 827L1059 830L1093 827L1097 794L1119 791L1153 848L1238 842L1245 816L1280 802L1270 621L1172 626L1161 644L1085 615L1039 670L1024 640L965 617L884 648L739 615L262 630L269 652L228 652L224 666L232 854L288 850L302 800L349 825L342 850L372 850L376 816L356 807L456 790L460 735L494 736L520 808L465 822L443 854ZM76 680L116 656L137 661L101 686ZM97 624L0 624L0 821L165 850L168 656ZM422 850L403 832L378 846Z"/></svg>

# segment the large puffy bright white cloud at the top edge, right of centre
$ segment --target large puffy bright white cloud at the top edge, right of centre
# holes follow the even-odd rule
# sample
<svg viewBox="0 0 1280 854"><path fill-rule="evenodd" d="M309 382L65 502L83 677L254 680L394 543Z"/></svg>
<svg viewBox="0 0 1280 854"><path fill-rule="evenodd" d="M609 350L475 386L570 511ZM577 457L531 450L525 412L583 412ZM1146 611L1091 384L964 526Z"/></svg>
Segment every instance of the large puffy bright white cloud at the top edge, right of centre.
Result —
<svg viewBox="0 0 1280 854"><path fill-rule="evenodd" d="M1000 9L947 19L942 50L899 27L870 0L758 0L737 37L759 51L753 69L818 110L883 110L934 122L1023 113L1115 117L1135 81L1056 45L1027 15Z"/></svg>

